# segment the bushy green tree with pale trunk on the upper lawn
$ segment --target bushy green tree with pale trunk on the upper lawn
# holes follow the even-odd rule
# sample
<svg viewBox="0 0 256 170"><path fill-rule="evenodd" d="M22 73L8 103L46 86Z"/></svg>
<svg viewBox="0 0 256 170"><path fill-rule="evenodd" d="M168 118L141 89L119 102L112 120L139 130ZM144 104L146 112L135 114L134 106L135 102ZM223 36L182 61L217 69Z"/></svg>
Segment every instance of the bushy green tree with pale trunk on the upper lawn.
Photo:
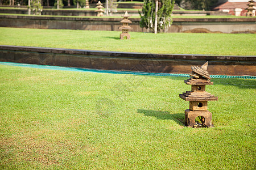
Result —
<svg viewBox="0 0 256 170"><path fill-rule="evenodd" d="M166 30L172 24L171 14L174 9L175 0L158 0L158 8L155 0L145 0L142 8L141 22L142 28L150 29L151 32Z"/></svg>

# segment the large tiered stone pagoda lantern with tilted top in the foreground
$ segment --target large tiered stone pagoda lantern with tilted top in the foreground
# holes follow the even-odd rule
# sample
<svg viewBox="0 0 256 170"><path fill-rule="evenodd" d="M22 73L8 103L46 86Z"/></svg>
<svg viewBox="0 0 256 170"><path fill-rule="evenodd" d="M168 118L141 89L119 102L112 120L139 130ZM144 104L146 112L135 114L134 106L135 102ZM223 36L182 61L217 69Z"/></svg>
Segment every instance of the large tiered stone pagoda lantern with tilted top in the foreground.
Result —
<svg viewBox="0 0 256 170"><path fill-rule="evenodd" d="M205 85L212 85L208 74L208 62L201 67L191 66L191 78L185 80L192 85L191 91L180 94L180 98L189 101L189 109L185 110L185 125L191 128L212 128L212 113L208 109L208 101L218 100L218 97L205 91ZM200 122L196 122L199 117Z"/></svg>

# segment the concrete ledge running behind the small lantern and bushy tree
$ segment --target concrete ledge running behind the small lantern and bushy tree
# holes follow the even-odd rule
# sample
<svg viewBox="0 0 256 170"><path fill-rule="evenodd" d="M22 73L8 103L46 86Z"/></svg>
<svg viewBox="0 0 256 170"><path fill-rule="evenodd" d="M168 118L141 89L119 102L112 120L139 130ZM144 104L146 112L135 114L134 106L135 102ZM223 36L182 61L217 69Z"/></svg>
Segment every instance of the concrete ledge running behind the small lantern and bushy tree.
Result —
<svg viewBox="0 0 256 170"><path fill-rule="evenodd" d="M0 27L41 28L41 29L81 29L99 31L119 31L121 18L71 18L57 16L0 15ZM140 18L130 19L135 32L146 32L139 26ZM174 18L167 32L255 33L256 18Z"/></svg>

